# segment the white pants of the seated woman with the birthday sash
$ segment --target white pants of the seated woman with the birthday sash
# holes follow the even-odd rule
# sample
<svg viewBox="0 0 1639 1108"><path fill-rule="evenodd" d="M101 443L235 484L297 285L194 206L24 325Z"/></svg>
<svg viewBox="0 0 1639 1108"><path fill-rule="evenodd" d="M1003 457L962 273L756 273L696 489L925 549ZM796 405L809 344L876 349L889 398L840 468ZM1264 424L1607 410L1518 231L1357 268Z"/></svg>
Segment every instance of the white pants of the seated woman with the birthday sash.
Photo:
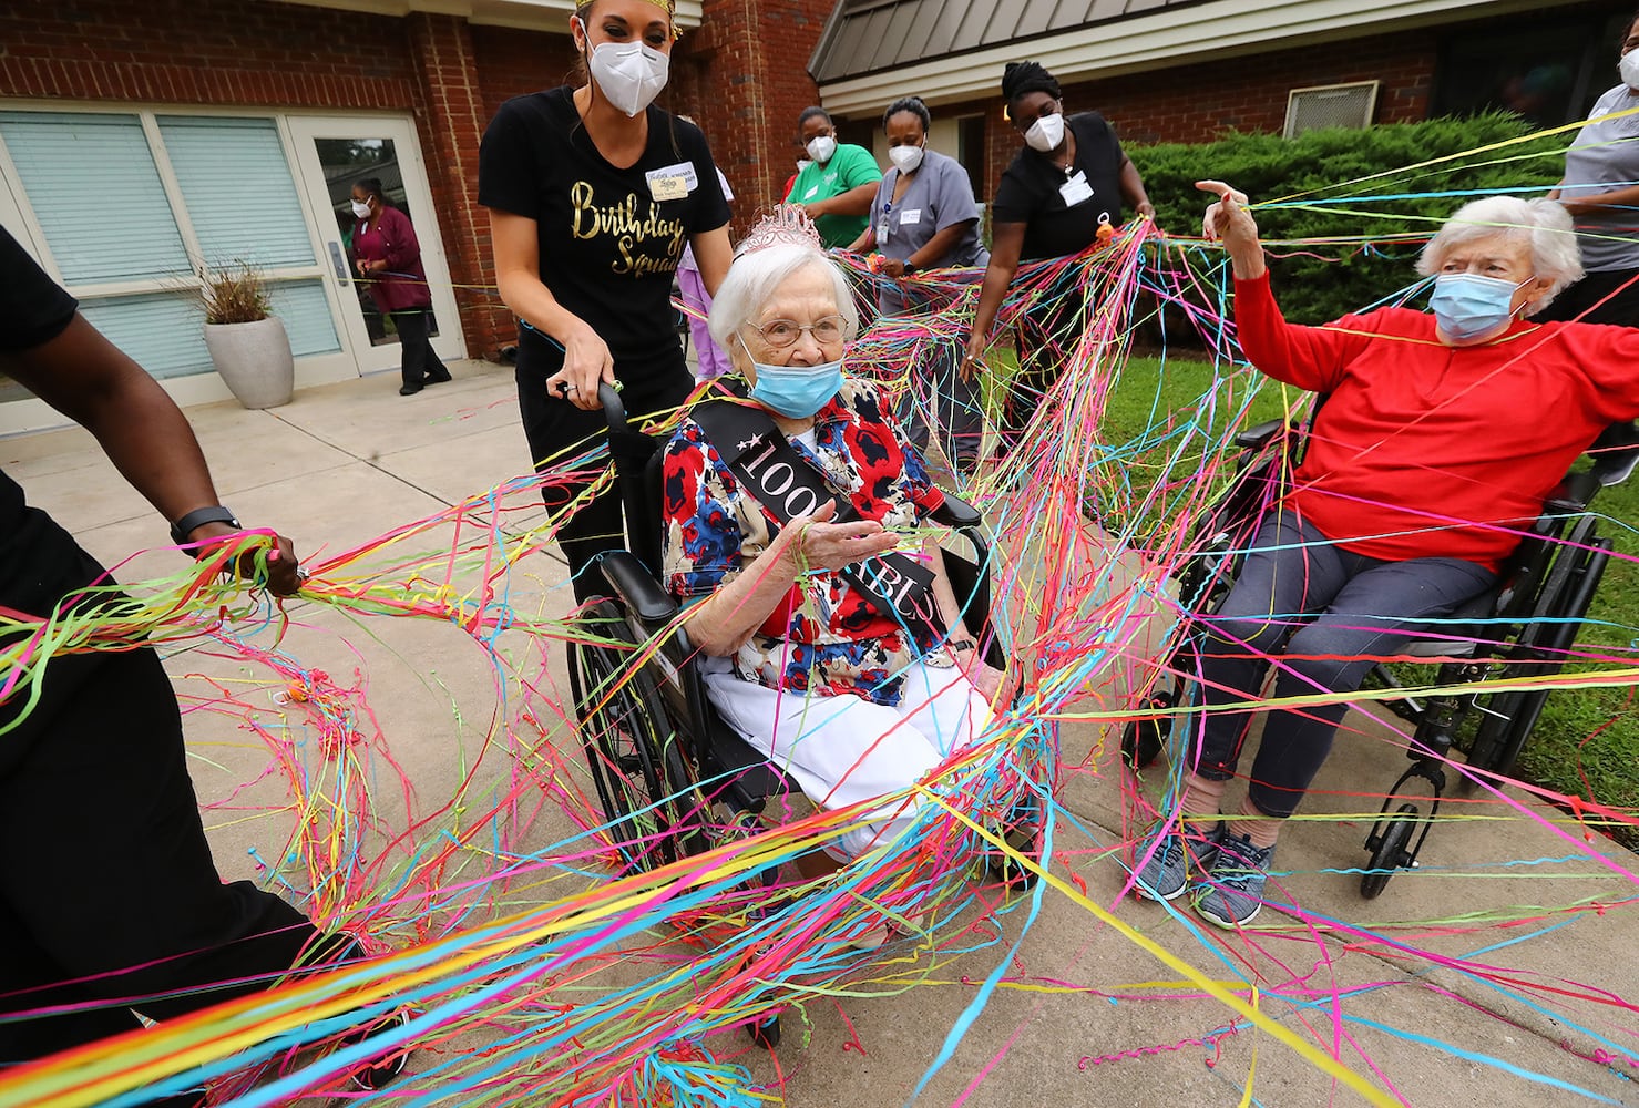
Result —
<svg viewBox="0 0 1639 1108"><path fill-rule="evenodd" d="M731 728L779 765L821 808L846 808L915 785L990 724L990 705L962 670L913 664L905 697L885 706L862 697L777 692L741 680L726 661L705 667L706 695ZM870 811L841 852L857 857L916 818L916 798Z"/></svg>

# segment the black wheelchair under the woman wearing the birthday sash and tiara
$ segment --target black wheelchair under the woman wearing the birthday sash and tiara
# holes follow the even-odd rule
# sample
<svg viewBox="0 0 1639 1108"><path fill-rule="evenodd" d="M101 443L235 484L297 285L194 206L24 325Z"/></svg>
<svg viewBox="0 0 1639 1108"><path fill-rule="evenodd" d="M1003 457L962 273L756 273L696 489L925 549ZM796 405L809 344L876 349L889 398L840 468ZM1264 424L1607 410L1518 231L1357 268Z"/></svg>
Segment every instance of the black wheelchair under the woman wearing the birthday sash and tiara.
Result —
<svg viewBox="0 0 1639 1108"><path fill-rule="evenodd" d="M687 626L677 621L677 598L661 585L664 441L629 426L620 393L610 385L598 392L628 546L600 554L588 567L602 574L608 597L579 616L569 683L593 788L608 818L606 833L621 872L633 874L751 834L772 798L800 790L706 697L700 654ZM972 559L946 551L946 569L995 665L1003 657L995 636L983 629L990 613L990 547L980 515L946 493L934 520L972 547ZM747 897L760 895L764 888L747 890ZM760 1046L779 1046L779 1016L749 1033Z"/></svg>

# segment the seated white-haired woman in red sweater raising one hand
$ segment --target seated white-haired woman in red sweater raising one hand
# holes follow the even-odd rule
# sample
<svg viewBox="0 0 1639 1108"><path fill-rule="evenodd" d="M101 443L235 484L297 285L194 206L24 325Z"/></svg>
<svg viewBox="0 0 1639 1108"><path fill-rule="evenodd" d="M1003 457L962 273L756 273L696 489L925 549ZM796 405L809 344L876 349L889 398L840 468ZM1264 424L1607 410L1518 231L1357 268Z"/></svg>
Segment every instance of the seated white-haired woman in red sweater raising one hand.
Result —
<svg viewBox="0 0 1639 1108"><path fill-rule="evenodd" d="M1275 380L1329 393L1303 464L1223 606L1203 620L1206 706L1354 690L1373 657L1496 585L1547 492L1609 423L1639 413L1639 329L1532 323L1582 275L1570 218L1549 200L1488 197L1424 247L1432 313L1383 308L1326 326L1287 323L1246 197L1206 233L1234 264L1241 349ZM1552 418L1549 418L1552 413ZM1192 888L1221 928L1264 903L1275 839L1331 751L1344 703L1272 708L1233 823L1219 820L1252 711L1195 723L1180 818L1139 851L1142 895Z"/></svg>

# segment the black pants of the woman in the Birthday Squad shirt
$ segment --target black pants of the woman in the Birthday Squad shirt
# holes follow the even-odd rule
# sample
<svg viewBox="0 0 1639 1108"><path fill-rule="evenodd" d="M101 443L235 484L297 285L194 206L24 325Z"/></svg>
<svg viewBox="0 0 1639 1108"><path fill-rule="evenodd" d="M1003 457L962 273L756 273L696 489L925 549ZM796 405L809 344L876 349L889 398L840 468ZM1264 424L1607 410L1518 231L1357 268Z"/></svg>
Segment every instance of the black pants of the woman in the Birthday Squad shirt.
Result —
<svg viewBox="0 0 1639 1108"><path fill-rule="evenodd" d="M608 423L603 411L583 411L562 397L549 397L546 379L562 367L562 352L539 357L534 351L524 351L520 344L518 359L518 410L523 415L523 431L529 439L529 454L538 472L564 467L575 454L592 449L608 441ZM616 366L616 374L623 382L621 400L626 413L636 423L669 408L677 408L693 390L693 377L683 362L682 349L677 357L667 357L659 366L646 366L642 372L631 377ZM528 364L526 364L528 361ZM556 364L554 364L556 361ZM544 364L543 364L544 362ZM602 470L575 474L569 480L554 482L541 490L549 510L562 508L579 497ZM618 551L626 546L624 516L620 506L620 490L610 488L587 505L582 505L574 516L565 520L557 529L557 544L569 561L569 574L575 590L575 600L585 602L606 595L608 588L597 572L587 572L587 565L603 551Z"/></svg>

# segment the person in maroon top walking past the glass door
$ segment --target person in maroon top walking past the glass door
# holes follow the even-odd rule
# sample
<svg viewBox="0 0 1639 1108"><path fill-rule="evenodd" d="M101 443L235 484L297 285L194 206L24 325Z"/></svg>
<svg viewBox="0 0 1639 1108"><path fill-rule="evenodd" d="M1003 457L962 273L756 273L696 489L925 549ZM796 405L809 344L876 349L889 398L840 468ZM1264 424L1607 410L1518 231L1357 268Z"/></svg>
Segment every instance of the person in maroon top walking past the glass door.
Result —
<svg viewBox="0 0 1639 1108"><path fill-rule="evenodd" d="M365 282L375 310L392 316L398 329L400 397L413 397L426 385L449 380L449 370L433 352L428 320L433 292L421 267L421 244L410 226L410 216L387 207L379 177L365 177L352 187L352 266Z"/></svg>

